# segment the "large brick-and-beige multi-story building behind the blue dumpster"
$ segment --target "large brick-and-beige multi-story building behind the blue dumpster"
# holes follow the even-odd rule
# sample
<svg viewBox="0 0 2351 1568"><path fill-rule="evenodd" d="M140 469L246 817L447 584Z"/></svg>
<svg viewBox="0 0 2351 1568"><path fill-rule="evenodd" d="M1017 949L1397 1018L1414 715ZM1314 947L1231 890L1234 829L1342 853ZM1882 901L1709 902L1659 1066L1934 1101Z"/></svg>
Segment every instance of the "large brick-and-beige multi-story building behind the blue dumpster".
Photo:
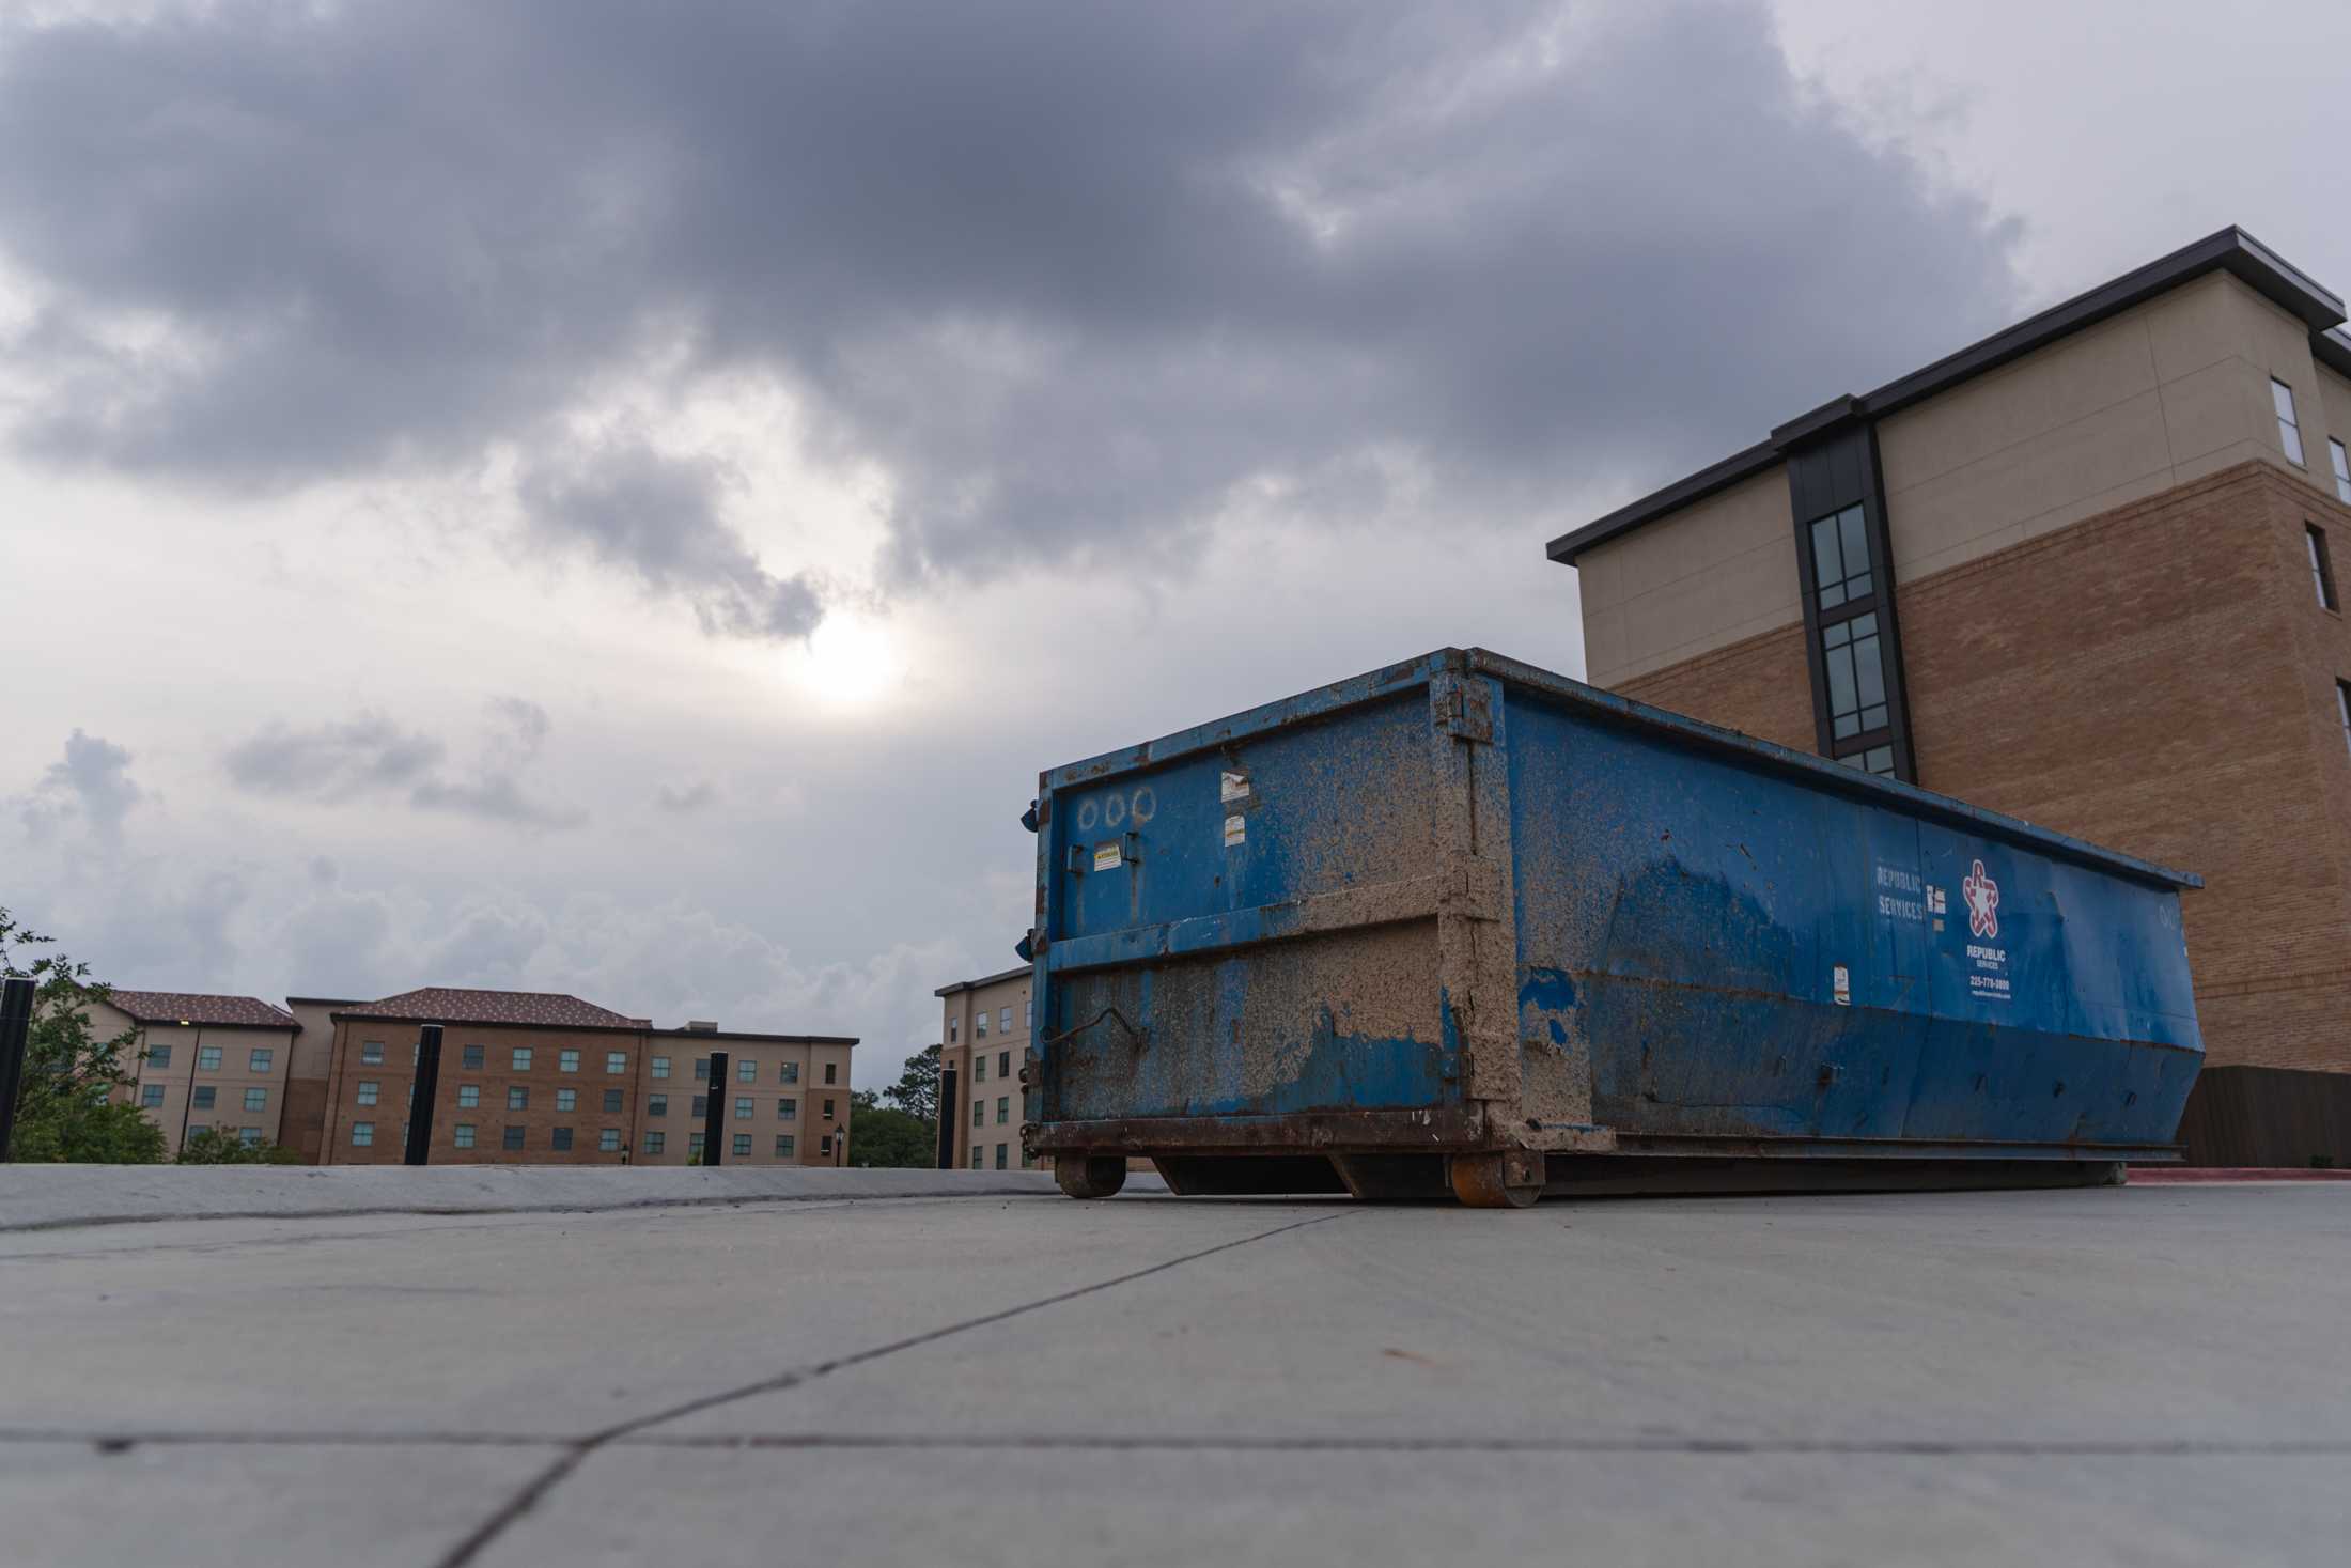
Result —
<svg viewBox="0 0 2351 1568"><path fill-rule="evenodd" d="M1594 684L2201 872L2191 1159L2351 1164L2342 322L2222 230L1549 545Z"/></svg>

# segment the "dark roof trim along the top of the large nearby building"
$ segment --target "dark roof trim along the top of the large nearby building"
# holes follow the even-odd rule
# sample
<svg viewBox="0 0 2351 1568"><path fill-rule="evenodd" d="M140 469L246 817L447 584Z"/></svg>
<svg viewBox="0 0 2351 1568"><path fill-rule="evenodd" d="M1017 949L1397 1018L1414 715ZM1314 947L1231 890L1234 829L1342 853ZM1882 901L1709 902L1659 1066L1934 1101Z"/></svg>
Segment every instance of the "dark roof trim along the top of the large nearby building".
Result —
<svg viewBox="0 0 2351 1568"><path fill-rule="evenodd" d="M1737 456L1723 458L1714 468L1702 468L1688 480L1667 484L1632 505L1622 505L1606 517L1573 529L1570 534L1561 534L1547 545L1545 552L1554 562L1573 567L1575 557L1594 545L1620 538L1622 534L1679 512L1686 505L1730 489L1740 480L1768 470L1773 463L1782 461L1789 447L1829 435L1855 418L1883 418L1914 402L1947 393L1961 381L1972 381L1975 376L1994 371L2010 360L2020 360L2036 348L2045 348L2057 339L2095 327L2111 315L2146 303L2156 294L2165 294L2215 270L2226 270L2276 303L2280 310L2297 315L2311 329L2311 353L2327 367L2351 376L2351 339L2332 331L2344 322L2342 296L2330 294L2311 280L2309 273L2231 223L2217 235L2205 235L2170 256L2149 261L2132 273L2123 273L2114 282L2099 284L2088 294L2076 294L2062 306L2050 306L2041 315L2031 315L2015 327L2005 327L1982 343L1972 343L1970 348L1961 348L1956 355L1935 360L1925 369L1911 371L1900 381L1888 381L1864 397L1836 397L1820 409L1780 425L1770 433L1768 442L1759 442Z"/></svg>

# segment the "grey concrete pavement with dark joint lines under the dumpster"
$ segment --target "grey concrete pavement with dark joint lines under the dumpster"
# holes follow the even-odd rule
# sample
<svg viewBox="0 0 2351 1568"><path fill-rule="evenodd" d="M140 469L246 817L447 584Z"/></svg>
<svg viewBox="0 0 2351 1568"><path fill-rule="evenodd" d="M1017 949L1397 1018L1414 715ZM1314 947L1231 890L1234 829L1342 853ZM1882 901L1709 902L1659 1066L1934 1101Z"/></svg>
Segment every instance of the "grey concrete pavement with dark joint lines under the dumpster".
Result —
<svg viewBox="0 0 2351 1568"><path fill-rule="evenodd" d="M2351 1537L2344 1185L1474 1213L844 1175L0 1234L0 1559L2313 1563Z"/></svg>

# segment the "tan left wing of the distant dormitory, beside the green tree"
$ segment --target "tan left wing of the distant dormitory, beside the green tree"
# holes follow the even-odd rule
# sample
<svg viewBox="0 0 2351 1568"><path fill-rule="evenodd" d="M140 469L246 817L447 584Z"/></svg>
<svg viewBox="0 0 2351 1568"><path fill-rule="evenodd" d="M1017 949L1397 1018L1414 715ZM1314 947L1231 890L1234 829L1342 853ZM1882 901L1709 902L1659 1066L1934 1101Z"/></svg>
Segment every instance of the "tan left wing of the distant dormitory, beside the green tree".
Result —
<svg viewBox="0 0 2351 1568"><path fill-rule="evenodd" d="M202 1128L282 1143L294 1013L259 997L113 990L89 1006L89 1030L134 1037L122 1065L136 1081L120 1093L162 1128L169 1154Z"/></svg>

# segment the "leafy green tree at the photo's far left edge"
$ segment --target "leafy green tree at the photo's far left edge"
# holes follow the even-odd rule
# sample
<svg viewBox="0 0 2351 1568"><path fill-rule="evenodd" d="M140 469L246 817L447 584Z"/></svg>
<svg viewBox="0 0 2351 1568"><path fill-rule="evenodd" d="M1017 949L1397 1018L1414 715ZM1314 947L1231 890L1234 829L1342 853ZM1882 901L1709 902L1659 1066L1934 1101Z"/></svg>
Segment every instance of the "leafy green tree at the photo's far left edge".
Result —
<svg viewBox="0 0 2351 1568"><path fill-rule="evenodd" d="M89 1004L106 1001L106 985L89 978L89 964L42 952L54 940L0 907L0 973L35 987L9 1154L24 1164L158 1164L165 1154L162 1128L115 1098L132 1081L122 1053L139 1032L94 1034Z"/></svg>

